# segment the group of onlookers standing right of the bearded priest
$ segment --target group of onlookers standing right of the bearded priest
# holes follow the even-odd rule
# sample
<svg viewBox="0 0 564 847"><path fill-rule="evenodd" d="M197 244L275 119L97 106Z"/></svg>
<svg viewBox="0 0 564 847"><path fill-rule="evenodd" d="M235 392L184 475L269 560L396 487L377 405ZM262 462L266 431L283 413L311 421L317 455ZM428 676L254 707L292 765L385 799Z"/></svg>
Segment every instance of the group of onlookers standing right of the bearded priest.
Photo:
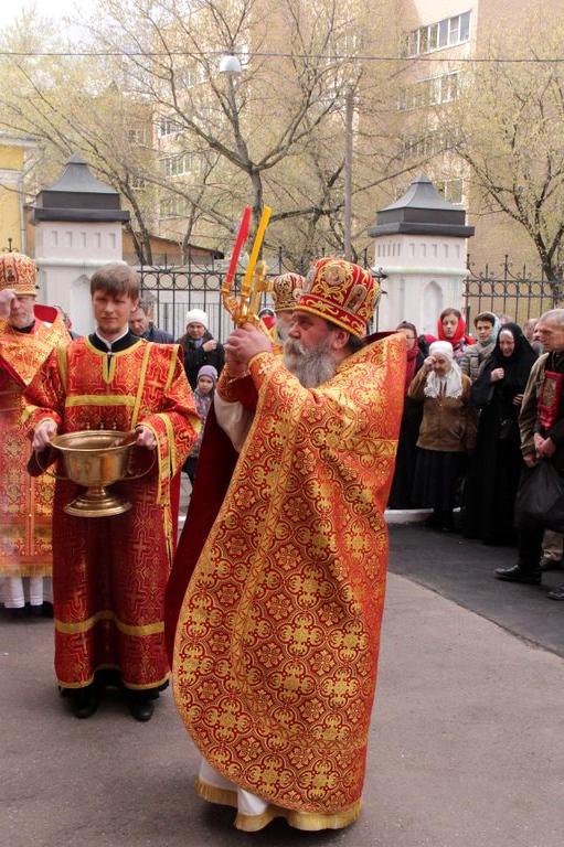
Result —
<svg viewBox="0 0 564 847"><path fill-rule="evenodd" d="M389 507L430 508L430 528L517 545L518 564L496 577L539 585L543 570L563 567L562 536L515 522L515 498L528 468L549 460L561 471L564 310L523 329L507 314L480 312L473 328L475 337L457 309L440 313L436 336L405 321L396 328L408 351ZM564 600L564 586L547 596Z"/></svg>

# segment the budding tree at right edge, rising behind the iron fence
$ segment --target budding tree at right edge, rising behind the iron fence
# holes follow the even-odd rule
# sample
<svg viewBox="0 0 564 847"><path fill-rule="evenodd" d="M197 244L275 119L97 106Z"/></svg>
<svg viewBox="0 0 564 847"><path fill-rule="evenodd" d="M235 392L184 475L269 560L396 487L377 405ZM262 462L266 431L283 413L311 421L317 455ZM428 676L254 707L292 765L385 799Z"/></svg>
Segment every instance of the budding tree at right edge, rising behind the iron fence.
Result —
<svg viewBox="0 0 564 847"><path fill-rule="evenodd" d="M467 79L453 119L482 211L501 211L534 245L558 300L563 290L564 28L535 17L507 22ZM494 57L501 61L494 61ZM518 61L503 61L517 58Z"/></svg>

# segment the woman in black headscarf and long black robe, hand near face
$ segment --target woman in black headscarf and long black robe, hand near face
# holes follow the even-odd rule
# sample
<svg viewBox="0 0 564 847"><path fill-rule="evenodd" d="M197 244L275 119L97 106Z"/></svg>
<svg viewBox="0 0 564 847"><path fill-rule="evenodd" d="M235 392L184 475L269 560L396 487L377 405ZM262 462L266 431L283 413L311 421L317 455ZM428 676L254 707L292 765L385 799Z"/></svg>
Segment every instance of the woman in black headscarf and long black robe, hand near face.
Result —
<svg viewBox="0 0 564 847"><path fill-rule="evenodd" d="M536 354L517 323L501 330L472 386L480 409L476 461L466 480L462 530L485 544L514 544L513 505L523 461L519 411Z"/></svg>

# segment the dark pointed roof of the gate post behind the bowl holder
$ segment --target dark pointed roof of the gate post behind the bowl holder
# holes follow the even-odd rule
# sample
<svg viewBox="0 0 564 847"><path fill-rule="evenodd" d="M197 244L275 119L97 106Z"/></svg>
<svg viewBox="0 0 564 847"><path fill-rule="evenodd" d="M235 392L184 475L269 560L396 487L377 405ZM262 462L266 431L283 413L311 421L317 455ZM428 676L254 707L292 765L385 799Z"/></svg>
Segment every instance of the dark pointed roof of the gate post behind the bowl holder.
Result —
<svg viewBox="0 0 564 847"><path fill-rule="evenodd" d="M58 180L35 197L32 223L39 221L124 222L129 212L121 210L119 192L96 179L75 153Z"/></svg>

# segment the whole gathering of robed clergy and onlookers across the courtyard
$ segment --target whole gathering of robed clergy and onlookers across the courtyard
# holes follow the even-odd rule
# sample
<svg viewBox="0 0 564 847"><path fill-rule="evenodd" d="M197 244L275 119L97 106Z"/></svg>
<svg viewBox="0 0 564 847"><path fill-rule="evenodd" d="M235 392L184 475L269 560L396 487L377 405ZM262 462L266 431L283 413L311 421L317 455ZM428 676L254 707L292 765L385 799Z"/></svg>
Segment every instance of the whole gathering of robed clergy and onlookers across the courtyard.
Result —
<svg viewBox="0 0 564 847"><path fill-rule="evenodd" d="M41 614L52 601L56 683L79 719L111 687L148 721L172 678L202 757L198 794L233 806L237 828L348 826L375 693L386 507L517 544L517 565L496 571L506 581L538 585L557 567L557 535L531 515L515 529L513 513L526 469L546 460L564 475L564 310L526 326L532 343L492 312L472 337L454 308L436 336L407 321L368 336L377 280L328 257L307 278L277 277L274 309L225 345L200 309L174 343L137 274L113 264L91 279L94 332L72 337L61 309L36 304L35 279L30 258L0 256L6 608ZM93 514L57 439L87 444L99 430L132 452ZM192 493L178 539L182 471Z"/></svg>

